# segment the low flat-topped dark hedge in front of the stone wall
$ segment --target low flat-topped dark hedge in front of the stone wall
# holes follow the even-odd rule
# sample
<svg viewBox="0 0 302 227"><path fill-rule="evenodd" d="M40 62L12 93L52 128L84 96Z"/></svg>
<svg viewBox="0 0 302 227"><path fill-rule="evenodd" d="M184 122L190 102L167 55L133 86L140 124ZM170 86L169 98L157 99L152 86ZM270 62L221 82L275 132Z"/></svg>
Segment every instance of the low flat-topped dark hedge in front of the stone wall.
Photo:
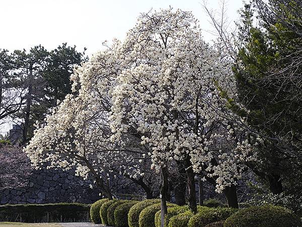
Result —
<svg viewBox="0 0 302 227"><path fill-rule="evenodd" d="M1 205L0 221L57 222L61 219L83 221L87 219L89 210L89 204L81 203Z"/></svg>

